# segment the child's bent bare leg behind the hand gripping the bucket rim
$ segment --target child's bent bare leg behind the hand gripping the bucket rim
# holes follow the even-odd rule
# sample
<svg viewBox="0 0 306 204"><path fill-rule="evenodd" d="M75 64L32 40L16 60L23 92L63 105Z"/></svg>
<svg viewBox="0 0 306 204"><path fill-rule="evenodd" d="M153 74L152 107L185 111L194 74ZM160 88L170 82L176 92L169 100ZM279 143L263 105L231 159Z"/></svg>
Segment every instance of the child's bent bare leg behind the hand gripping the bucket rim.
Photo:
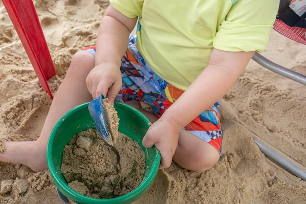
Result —
<svg viewBox="0 0 306 204"><path fill-rule="evenodd" d="M130 106L144 113L153 123L158 117L141 108L136 100L126 102ZM180 166L192 171L206 171L213 167L219 160L219 152L197 136L181 130L178 137L178 145L173 160Z"/></svg>

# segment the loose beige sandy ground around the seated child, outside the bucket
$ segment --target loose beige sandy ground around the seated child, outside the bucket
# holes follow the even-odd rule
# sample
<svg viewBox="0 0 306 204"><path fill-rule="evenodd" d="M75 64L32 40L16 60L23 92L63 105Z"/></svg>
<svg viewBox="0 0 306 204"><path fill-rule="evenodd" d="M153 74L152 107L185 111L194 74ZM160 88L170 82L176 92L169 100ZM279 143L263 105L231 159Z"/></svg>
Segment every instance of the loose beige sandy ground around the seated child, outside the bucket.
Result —
<svg viewBox="0 0 306 204"><path fill-rule="evenodd" d="M34 0L58 73L56 90L71 57L94 45L107 0ZM51 99L42 90L18 35L0 2L0 139L35 140ZM272 31L262 53L306 75L305 46ZM175 163L158 172L135 204L305 204L306 181L267 159L254 138L306 171L306 86L251 61L221 100L223 152L204 173ZM48 171L0 162L0 204L60 204Z"/></svg>

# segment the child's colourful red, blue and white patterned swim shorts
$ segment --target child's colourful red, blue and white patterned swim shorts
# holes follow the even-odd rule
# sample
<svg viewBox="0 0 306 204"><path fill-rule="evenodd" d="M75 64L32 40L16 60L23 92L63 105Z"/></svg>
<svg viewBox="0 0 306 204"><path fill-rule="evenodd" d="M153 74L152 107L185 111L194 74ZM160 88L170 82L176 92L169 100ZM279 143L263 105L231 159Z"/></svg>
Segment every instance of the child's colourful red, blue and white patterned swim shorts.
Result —
<svg viewBox="0 0 306 204"><path fill-rule="evenodd" d="M136 36L130 36L128 49L121 60L121 100L138 100L149 104L160 117L184 92L160 78L138 52ZM95 46L85 47L95 55ZM184 129L213 145L219 153L222 149L219 101L198 115Z"/></svg>

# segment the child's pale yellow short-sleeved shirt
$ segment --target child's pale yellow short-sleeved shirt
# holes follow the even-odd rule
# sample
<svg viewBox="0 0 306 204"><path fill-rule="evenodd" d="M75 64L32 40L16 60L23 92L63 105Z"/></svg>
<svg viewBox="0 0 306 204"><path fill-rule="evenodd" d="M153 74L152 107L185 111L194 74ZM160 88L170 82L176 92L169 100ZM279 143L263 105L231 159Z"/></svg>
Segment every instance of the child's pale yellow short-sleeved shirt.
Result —
<svg viewBox="0 0 306 204"><path fill-rule="evenodd" d="M263 51L279 0L110 0L139 17L137 48L150 67L186 90L208 65L213 48Z"/></svg>

